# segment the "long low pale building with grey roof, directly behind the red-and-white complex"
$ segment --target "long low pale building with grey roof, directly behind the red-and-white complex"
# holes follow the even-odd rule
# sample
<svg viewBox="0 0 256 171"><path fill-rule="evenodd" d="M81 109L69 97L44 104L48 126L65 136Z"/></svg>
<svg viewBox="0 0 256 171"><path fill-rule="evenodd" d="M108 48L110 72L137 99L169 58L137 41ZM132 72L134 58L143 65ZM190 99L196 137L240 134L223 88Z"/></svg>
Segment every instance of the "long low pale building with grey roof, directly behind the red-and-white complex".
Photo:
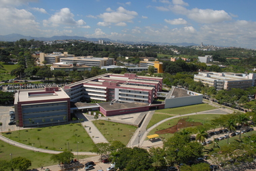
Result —
<svg viewBox="0 0 256 171"><path fill-rule="evenodd" d="M76 56L73 58L61 58L63 64L84 64L87 66L108 66L115 64L114 58L95 58L93 56Z"/></svg>

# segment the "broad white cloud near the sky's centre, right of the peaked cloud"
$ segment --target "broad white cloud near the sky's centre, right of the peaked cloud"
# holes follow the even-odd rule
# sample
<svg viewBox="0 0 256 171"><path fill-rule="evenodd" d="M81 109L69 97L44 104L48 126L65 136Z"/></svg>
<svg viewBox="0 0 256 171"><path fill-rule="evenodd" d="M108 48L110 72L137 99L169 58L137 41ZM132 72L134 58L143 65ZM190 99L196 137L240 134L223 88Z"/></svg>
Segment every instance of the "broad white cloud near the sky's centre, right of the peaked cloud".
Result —
<svg viewBox="0 0 256 171"><path fill-rule="evenodd" d="M119 7L117 11L102 13L98 15L98 17L102 18L104 21L104 24L102 22L99 22L100 25L111 25L112 23L132 22L132 19L136 15L137 12L135 11L129 11L123 7Z"/></svg>

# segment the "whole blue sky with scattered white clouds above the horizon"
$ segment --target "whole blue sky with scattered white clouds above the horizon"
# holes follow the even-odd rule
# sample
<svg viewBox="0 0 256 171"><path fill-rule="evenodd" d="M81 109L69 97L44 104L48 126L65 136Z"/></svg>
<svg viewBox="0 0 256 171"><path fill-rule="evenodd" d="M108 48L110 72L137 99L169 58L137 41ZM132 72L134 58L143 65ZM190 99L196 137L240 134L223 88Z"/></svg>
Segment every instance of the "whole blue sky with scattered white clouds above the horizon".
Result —
<svg viewBox="0 0 256 171"><path fill-rule="evenodd" d="M254 0L0 0L0 35L256 49Z"/></svg>

